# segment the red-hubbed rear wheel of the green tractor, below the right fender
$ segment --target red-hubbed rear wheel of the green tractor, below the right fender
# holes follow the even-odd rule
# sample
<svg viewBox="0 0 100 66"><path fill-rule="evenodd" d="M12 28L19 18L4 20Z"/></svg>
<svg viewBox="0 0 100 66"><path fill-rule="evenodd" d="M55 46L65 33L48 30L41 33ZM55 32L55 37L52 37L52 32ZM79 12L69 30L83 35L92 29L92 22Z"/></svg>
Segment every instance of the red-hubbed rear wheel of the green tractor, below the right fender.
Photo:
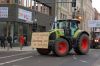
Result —
<svg viewBox="0 0 100 66"><path fill-rule="evenodd" d="M81 34L77 40L77 44L74 45L74 51L77 54L87 54L89 51L89 36L87 34Z"/></svg>

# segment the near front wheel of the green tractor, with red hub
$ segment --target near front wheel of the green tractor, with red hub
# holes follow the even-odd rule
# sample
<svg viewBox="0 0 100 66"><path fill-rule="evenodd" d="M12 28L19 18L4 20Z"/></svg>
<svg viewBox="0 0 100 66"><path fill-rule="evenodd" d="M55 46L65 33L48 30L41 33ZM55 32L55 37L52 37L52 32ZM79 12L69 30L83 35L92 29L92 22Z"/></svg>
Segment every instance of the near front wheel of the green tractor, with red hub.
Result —
<svg viewBox="0 0 100 66"><path fill-rule="evenodd" d="M53 45L53 53L56 56L65 56L67 55L68 52L69 52L69 44L67 40L63 38L55 40L55 44Z"/></svg>

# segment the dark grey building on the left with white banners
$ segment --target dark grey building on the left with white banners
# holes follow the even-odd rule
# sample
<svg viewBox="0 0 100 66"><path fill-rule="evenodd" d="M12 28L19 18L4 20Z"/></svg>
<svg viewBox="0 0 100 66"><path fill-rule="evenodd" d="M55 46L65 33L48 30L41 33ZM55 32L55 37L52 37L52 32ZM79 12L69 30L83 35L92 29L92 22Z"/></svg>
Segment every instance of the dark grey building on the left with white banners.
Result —
<svg viewBox="0 0 100 66"><path fill-rule="evenodd" d="M13 43L19 36L30 44L34 31L48 31L55 16L54 0L0 0L0 34L10 33ZM35 26L34 26L35 25ZM16 41L15 41L16 40Z"/></svg>

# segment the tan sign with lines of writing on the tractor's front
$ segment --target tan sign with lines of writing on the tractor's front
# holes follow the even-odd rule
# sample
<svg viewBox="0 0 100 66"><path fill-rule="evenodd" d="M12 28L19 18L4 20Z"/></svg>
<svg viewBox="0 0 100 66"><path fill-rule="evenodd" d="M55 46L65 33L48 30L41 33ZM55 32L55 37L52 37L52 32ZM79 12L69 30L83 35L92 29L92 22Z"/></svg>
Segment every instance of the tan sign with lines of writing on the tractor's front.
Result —
<svg viewBox="0 0 100 66"><path fill-rule="evenodd" d="M32 33L31 47L32 48L48 48L49 32L34 32Z"/></svg>

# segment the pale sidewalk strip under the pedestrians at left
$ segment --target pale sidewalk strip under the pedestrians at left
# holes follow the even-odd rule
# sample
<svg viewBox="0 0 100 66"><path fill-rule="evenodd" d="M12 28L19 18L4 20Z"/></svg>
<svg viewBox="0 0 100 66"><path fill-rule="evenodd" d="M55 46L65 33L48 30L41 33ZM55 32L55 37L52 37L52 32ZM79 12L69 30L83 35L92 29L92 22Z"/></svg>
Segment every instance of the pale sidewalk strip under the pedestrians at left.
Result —
<svg viewBox="0 0 100 66"><path fill-rule="evenodd" d="M20 50L20 47L13 47L13 48L2 48L0 47L0 51L34 51L35 49L32 49L30 46L23 46L22 50Z"/></svg>

